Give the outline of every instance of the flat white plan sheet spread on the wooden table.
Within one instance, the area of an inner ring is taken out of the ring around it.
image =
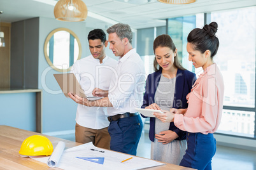
[[[88,160],[78,159],[77,157],[104,157],[104,163],[97,164]],[[122,162],[122,160],[128,159],[129,157],[132,157],[132,159]],[[36,158],[36,160],[47,163],[47,160],[43,158]],[[103,148],[97,148],[92,144],[92,142],[90,142],[64,150],[57,167],[66,170],[85,169],[85,167],[87,170],[131,170],[161,165],[164,165],[164,163],[141,157],[135,157],[133,155],[113,152]]]

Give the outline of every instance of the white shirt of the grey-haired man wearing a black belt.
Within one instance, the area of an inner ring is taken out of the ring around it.
[[[146,80],[144,63],[136,49],[131,49],[118,60],[117,75],[111,79],[108,98],[113,107],[108,108],[108,115],[135,113],[143,101]]]

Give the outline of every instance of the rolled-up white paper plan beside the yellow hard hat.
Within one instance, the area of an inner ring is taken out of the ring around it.
[[[59,141],[57,146],[52,152],[52,155],[47,160],[47,165],[50,167],[57,167],[57,164],[60,160],[60,157],[62,155],[62,152],[64,151],[65,143],[63,141]]]

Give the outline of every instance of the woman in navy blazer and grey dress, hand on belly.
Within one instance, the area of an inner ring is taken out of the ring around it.
[[[146,79],[141,108],[164,110],[187,108],[186,96],[196,81],[196,74],[181,66],[177,49],[169,35],[156,37],[153,51],[155,72]],[[150,117],[151,159],[180,164],[187,148],[185,137],[186,132],[174,126],[173,122],[167,124]]]

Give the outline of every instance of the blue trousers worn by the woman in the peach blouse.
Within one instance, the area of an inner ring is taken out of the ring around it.
[[[212,133],[187,133],[187,150],[180,166],[210,170],[215,152],[216,140]]]

